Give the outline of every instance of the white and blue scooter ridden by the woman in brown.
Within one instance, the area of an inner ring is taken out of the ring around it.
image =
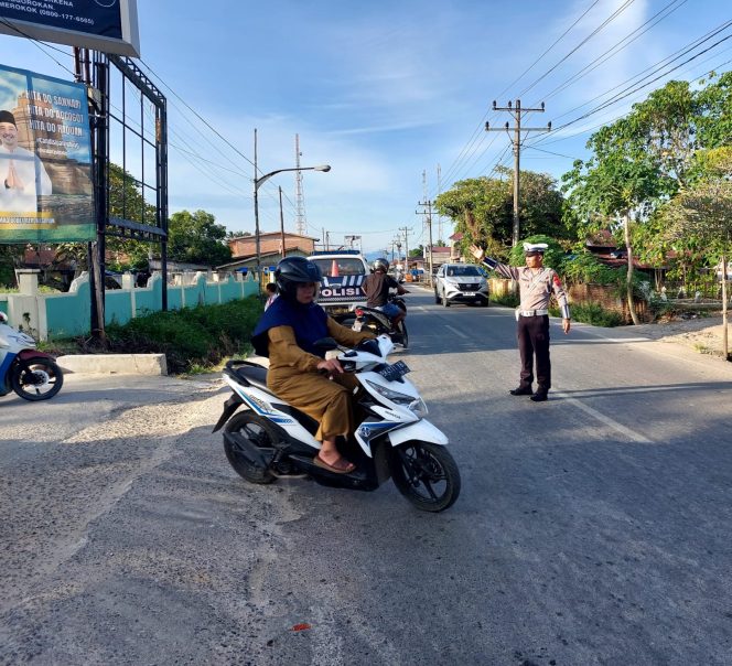
[[[267,368],[229,361],[224,379],[232,396],[214,432],[225,426],[224,450],[236,472],[251,483],[310,475],[322,485],[359,491],[375,491],[391,477],[419,509],[441,512],[452,506],[461,482],[445,449],[448,438],[426,420],[427,406],[405,377],[407,365],[387,363],[391,340],[380,335],[354,350],[340,347],[330,337],[316,344],[326,351],[337,348],[341,365],[355,373],[360,385],[356,411],[365,418],[341,448],[356,469],[335,474],[316,465],[317,422],[267,388]],[[246,411],[235,415],[239,407]]]

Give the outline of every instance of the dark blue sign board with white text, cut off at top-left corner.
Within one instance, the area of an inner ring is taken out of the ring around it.
[[[137,0],[0,0],[0,33],[140,56]]]

